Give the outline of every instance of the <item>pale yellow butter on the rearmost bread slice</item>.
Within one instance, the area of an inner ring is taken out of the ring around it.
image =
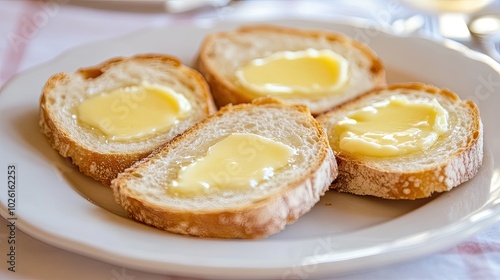
[[[241,86],[257,95],[324,97],[348,79],[348,62],[331,50],[281,51],[254,59],[236,71]]]

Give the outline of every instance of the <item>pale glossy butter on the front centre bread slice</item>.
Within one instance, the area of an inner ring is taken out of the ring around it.
[[[288,165],[295,150],[257,134],[234,133],[210,146],[205,156],[184,166],[168,186],[175,196],[249,190]]]

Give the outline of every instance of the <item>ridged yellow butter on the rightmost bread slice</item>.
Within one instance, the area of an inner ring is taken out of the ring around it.
[[[397,95],[338,121],[332,145],[353,155],[400,156],[430,148],[447,130],[448,113],[436,99]]]

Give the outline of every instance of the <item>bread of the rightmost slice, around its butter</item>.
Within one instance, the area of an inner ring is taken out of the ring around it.
[[[448,112],[449,130],[429,149],[404,156],[375,158],[349,156],[338,148],[334,126],[347,113],[404,95],[410,100],[436,100]],[[449,191],[471,179],[483,158],[483,127],[479,109],[472,101],[462,101],[447,90],[421,83],[396,84],[375,89],[339,108],[319,116],[339,165],[332,188],[358,195],[388,199],[417,199]]]

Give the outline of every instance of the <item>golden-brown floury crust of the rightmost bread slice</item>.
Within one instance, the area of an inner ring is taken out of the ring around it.
[[[431,159],[436,164],[411,171],[395,171],[381,168],[376,164],[376,161],[352,157],[340,151],[334,151],[339,166],[339,176],[332,183],[331,188],[340,192],[358,195],[413,200],[430,197],[433,193],[449,191],[476,175],[483,159],[483,126],[479,109],[474,102],[462,101],[448,89],[440,89],[423,83],[394,84],[375,89],[364,96],[360,96],[349,103],[318,116],[317,119],[323,127],[327,127],[328,133],[331,134],[333,125],[331,119],[338,114],[345,114],[352,104],[366,104],[371,97],[384,90],[401,93],[406,89],[425,92],[431,97],[432,95],[439,95],[449,100],[453,106],[465,108],[468,114],[456,117],[470,117],[473,125],[469,128],[466,139],[460,141],[463,145],[455,147],[446,158]],[[448,135],[447,137],[454,137],[454,135]],[[411,157],[408,160],[411,160]]]

